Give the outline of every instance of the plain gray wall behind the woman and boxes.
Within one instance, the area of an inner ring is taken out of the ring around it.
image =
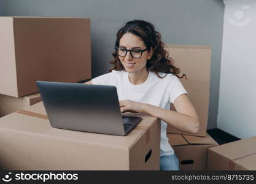
[[[222,0],[1,0],[8,16],[89,17],[93,77],[108,72],[115,34],[128,20],[152,22],[166,44],[212,45],[208,129],[217,127]]]

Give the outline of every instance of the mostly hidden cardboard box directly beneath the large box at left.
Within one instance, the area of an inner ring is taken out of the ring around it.
[[[39,93],[29,94],[20,98],[0,94],[0,118],[16,110],[30,107],[40,101],[42,99]]]

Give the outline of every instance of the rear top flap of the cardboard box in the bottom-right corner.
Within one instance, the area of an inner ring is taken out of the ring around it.
[[[231,160],[243,158],[256,153],[256,136],[209,149]]]

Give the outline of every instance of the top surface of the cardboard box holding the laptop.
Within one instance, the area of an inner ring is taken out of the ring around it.
[[[82,144],[96,144],[116,148],[130,148],[131,145],[147,131],[158,119],[146,113],[126,113],[142,117],[141,122],[126,136],[112,136],[107,134],[97,134],[91,132],[71,131],[66,129],[52,128],[50,122],[44,118],[46,112],[42,102],[25,109],[27,112],[34,112],[34,116],[23,113],[10,113],[6,117],[0,118],[0,129],[8,131],[18,131],[21,134],[36,134],[37,136],[47,136],[53,139],[66,139]],[[36,117],[41,115],[42,117]]]

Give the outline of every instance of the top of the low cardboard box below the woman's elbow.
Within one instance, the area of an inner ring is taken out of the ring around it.
[[[184,134],[167,134],[167,137],[169,138],[171,146],[206,144],[218,145],[217,142],[209,136],[209,134],[207,134],[206,137],[188,136]]]

